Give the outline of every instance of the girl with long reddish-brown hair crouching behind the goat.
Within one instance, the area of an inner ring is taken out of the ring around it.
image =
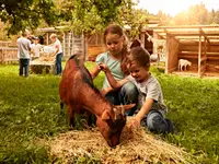
[[[106,44],[106,52],[96,57],[96,67],[91,71],[94,79],[99,73],[99,63],[105,63],[112,72],[115,80],[122,80],[127,74],[126,56],[127,45],[126,36],[119,25],[110,25],[104,32],[104,42]],[[137,103],[138,91],[136,86],[129,82],[124,84],[120,89],[113,90],[107,81],[104,79],[102,94],[114,105]],[[135,108],[127,112],[127,115],[132,115]]]

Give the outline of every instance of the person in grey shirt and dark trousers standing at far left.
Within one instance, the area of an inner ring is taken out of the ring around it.
[[[25,30],[22,32],[22,36],[18,38],[18,57],[19,57],[19,75],[28,77],[28,66],[30,66],[30,51],[31,51],[31,40],[28,39],[31,33]]]

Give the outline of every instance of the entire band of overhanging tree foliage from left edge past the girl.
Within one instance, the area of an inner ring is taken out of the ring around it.
[[[139,28],[142,20],[132,11],[134,4],[131,0],[0,0],[0,19],[9,25],[9,34],[34,30],[43,22],[80,34],[101,31],[112,22],[134,23],[131,27]]]

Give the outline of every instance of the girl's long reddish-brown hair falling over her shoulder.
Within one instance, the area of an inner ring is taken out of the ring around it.
[[[117,24],[111,24],[106,27],[104,32],[104,42],[106,43],[106,35],[107,34],[117,34],[118,36],[124,37],[124,44],[123,44],[123,49],[122,49],[122,60],[120,60],[120,69],[124,72],[124,74],[129,74],[128,70],[126,68],[126,61],[127,61],[127,55],[128,55],[128,39],[127,36],[125,35],[123,28],[117,25]]]

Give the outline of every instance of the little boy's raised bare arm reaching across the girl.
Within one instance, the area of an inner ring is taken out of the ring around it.
[[[119,89],[120,86],[123,86],[125,83],[129,82],[128,79],[123,79],[120,81],[116,81],[113,77],[113,74],[111,73],[111,70],[108,69],[108,67],[104,63],[100,63],[99,65],[100,70],[103,70],[106,74],[106,78],[111,84],[111,86],[113,89]]]

